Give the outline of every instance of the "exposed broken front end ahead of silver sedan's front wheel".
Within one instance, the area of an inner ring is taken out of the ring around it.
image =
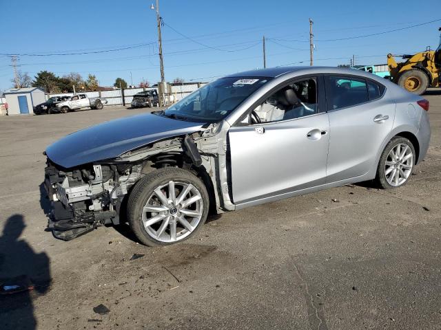
[[[48,228],[69,241],[100,225],[118,224],[127,190],[141,177],[141,165],[90,164],[60,168],[47,161],[45,189],[52,201]]]

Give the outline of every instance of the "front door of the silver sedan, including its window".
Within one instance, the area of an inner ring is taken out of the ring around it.
[[[272,94],[229,131],[234,203],[325,183],[329,120],[318,107],[317,79]],[[256,117],[258,116],[258,118]]]

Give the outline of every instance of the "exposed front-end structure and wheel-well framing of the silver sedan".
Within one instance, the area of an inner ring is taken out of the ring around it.
[[[155,142],[116,159],[76,168],[62,168],[48,157],[45,189],[52,202],[48,228],[58,239],[69,241],[101,225],[118,225],[132,186],[152,170],[167,166],[186,168],[202,177],[212,187],[215,212],[232,209],[229,197],[227,203],[218,198],[222,189],[215,170],[225,168],[226,147],[218,146],[214,131],[216,124],[211,124],[203,132]],[[226,170],[224,179],[227,187]],[[224,192],[228,196],[228,188]]]

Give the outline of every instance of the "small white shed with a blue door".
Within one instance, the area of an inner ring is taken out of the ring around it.
[[[8,103],[8,115],[34,114],[34,107],[46,102],[43,89],[38,87],[14,88],[3,95]]]

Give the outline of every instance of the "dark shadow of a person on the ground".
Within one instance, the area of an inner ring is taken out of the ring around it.
[[[23,215],[14,214],[0,236],[0,329],[4,330],[36,329],[32,300],[45,294],[51,282],[48,255],[35,253],[20,239],[24,229]]]

